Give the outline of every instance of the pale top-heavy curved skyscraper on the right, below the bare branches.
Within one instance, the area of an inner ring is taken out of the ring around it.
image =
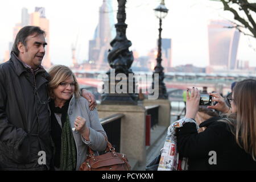
[[[208,72],[216,69],[236,69],[237,49],[240,32],[234,24],[226,20],[211,20],[208,25],[209,67]]]

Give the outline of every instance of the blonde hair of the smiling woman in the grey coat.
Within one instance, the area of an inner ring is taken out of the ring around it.
[[[77,79],[74,73],[69,69],[68,67],[64,65],[54,65],[49,69],[49,75],[51,76],[51,81],[49,81],[49,96],[52,99],[55,99],[55,95],[53,94],[53,89],[57,88],[59,84],[71,76],[73,77],[74,81],[76,82],[75,85],[75,97],[80,96],[80,90],[79,90],[79,85],[77,84]]]

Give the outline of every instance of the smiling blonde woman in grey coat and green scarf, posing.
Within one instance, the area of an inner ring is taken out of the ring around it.
[[[79,170],[88,146],[96,152],[106,148],[106,133],[96,109],[80,96],[79,85],[71,69],[53,66],[49,75],[51,135],[55,144],[55,170]],[[72,129],[73,128],[73,129]]]

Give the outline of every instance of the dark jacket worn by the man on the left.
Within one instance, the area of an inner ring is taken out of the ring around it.
[[[13,52],[11,59],[0,65],[0,168],[3,170],[49,169],[52,142],[48,79],[45,69],[40,67],[32,72]]]

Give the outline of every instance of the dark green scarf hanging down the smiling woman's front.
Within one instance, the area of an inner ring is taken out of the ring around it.
[[[76,143],[73,138],[69,117],[65,121],[61,133],[60,170],[76,170]]]

